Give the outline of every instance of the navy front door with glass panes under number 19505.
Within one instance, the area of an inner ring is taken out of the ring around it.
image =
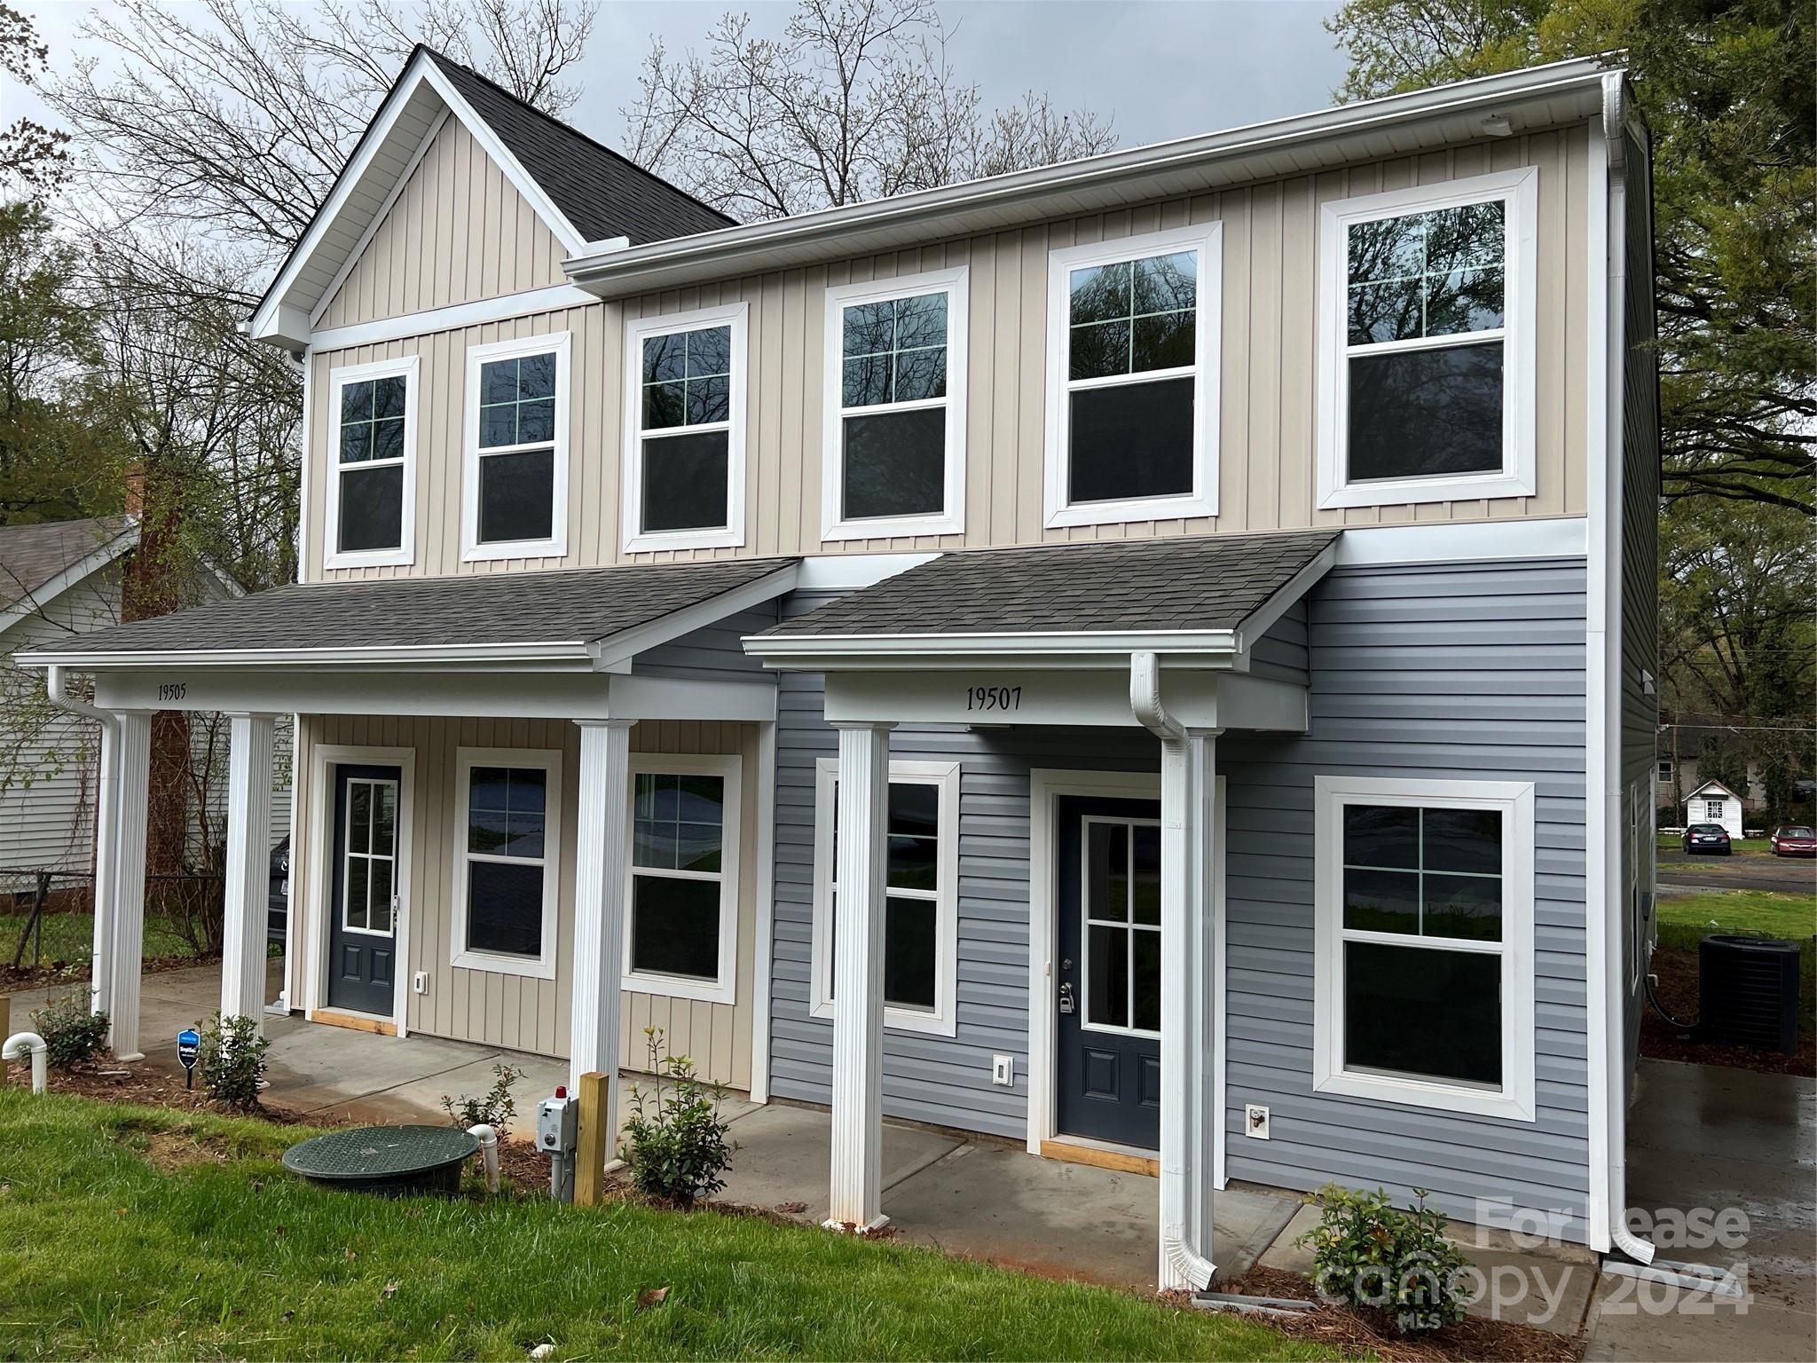
[[[398,965],[396,767],[334,769],[329,1005],[389,1018]]]

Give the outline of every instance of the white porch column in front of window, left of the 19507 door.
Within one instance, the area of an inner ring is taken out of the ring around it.
[[[889,723],[839,723],[838,932],[832,956],[832,1205],[827,1225],[883,1216],[883,914]]]

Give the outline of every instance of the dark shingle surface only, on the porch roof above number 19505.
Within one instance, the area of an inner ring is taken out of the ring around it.
[[[274,587],[84,634],[71,652],[592,643],[756,582],[789,558],[625,563]],[[45,652],[55,652],[45,649]]]

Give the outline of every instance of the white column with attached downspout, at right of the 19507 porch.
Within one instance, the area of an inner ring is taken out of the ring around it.
[[[1188,827],[1194,823],[1197,792],[1192,789],[1187,754],[1188,734],[1161,703],[1161,660],[1152,652],[1130,654],[1130,712],[1161,740],[1161,865],[1177,871],[1192,860],[1187,856]],[[1197,1079],[1203,1065],[1192,1047],[1194,1030],[1203,1036],[1203,1027],[1196,1029],[1194,1021],[1201,1016],[1206,987],[1197,978],[1199,972],[1190,969],[1205,958],[1205,914],[1194,912],[1194,905],[1203,903],[1197,890],[1197,878],[1190,874],[1161,878],[1163,1074],[1167,1063],[1174,1061],[1174,1074],[1165,1074],[1161,1087],[1161,1287],[1185,1283],[1203,1290],[1212,1285],[1217,1267],[1196,1249],[1212,1243],[1212,1170],[1201,1169],[1194,1158],[1205,1147],[1199,1139],[1205,1092]],[[1176,936],[1181,929],[1185,941]],[[1167,967],[1170,954],[1177,963],[1172,972]],[[1170,974],[1185,990],[1168,989]],[[1176,1049],[1185,1054],[1168,1054]]]

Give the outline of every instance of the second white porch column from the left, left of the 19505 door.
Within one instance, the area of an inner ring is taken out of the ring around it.
[[[273,716],[227,714],[227,903],[222,1016],[265,1027],[265,918],[271,892]]]

